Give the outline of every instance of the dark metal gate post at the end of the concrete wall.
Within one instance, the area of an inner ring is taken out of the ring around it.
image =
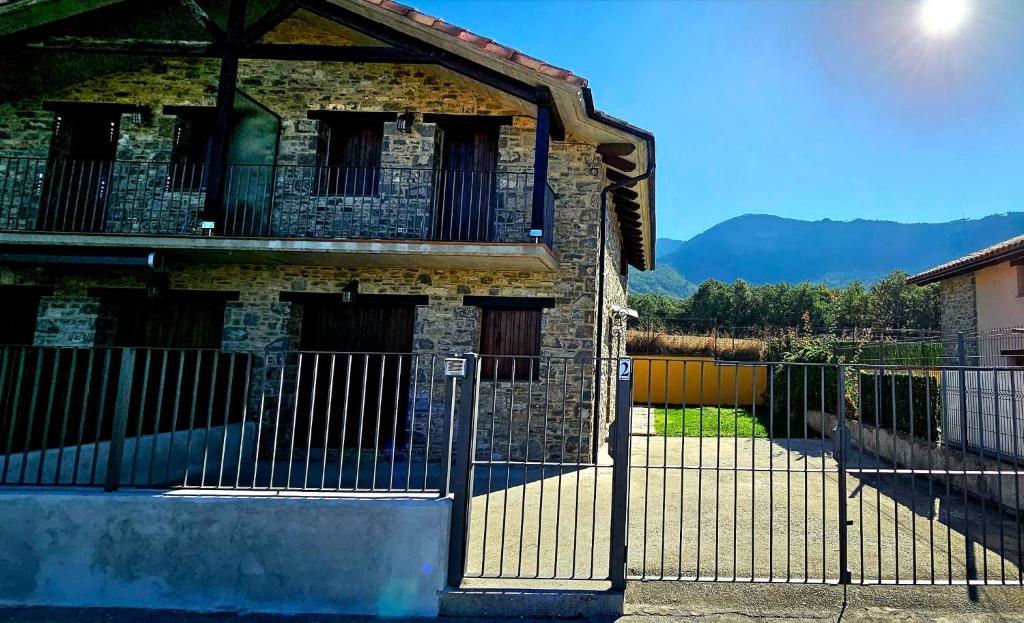
[[[477,406],[477,356],[468,352],[464,356],[465,368],[461,375],[459,386],[459,415],[456,419],[455,376],[449,385],[449,418],[451,426],[458,429],[455,450],[449,460],[455,461],[452,473],[452,533],[449,538],[449,570],[447,584],[458,588],[466,574],[466,552],[469,548],[469,515],[473,504],[473,455],[476,441],[476,406]],[[447,372],[447,371],[445,371]],[[443,486],[443,484],[442,484]]]

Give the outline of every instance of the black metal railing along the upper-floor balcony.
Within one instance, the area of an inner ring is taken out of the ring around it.
[[[229,165],[213,214],[208,174],[205,164],[0,158],[0,231],[551,244],[550,225],[529,237],[527,171]],[[552,222],[550,186],[545,213]]]

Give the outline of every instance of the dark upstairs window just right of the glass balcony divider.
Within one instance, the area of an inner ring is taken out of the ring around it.
[[[380,186],[384,117],[324,113],[316,117],[316,195],[366,197]]]

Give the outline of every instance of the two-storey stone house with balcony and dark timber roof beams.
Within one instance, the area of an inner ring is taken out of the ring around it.
[[[15,0],[0,39],[0,341],[251,354],[264,424],[361,383],[389,452],[443,431],[438,358],[505,357],[482,452],[603,443],[654,139],[586,80],[390,0]]]

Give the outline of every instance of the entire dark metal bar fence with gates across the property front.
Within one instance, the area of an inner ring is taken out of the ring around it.
[[[0,484],[452,492],[453,585],[1024,584],[1024,368],[637,363],[7,346]]]

